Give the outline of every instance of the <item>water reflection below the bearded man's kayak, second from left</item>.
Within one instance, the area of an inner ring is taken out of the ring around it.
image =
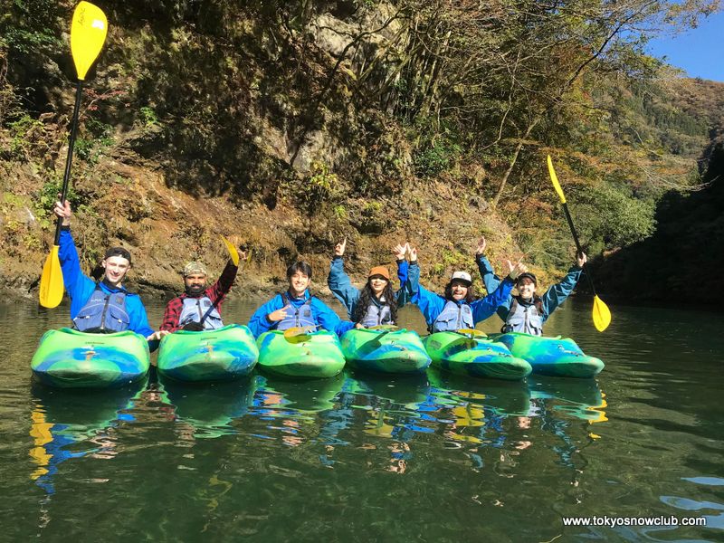
[[[190,424],[195,437],[235,433],[231,423],[249,412],[256,379],[190,384],[162,377],[167,401],[176,407],[176,422]]]

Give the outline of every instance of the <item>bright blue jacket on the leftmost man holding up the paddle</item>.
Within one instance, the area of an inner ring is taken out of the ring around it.
[[[78,250],[68,229],[61,230],[58,242],[58,257],[61,262],[62,281],[68,296],[71,297],[71,319],[78,317],[78,313],[90,300],[93,291],[97,288],[105,294],[122,292],[126,295],[126,312],[129,315],[129,330],[140,334],[144,338],[153,334],[154,330],[148,325],[146,308],[138,294],[129,292],[124,288],[115,289],[104,281],[96,282],[81,271],[81,261]]]

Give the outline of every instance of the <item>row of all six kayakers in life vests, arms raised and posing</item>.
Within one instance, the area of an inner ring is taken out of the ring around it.
[[[131,330],[148,341],[157,342],[178,329],[204,330],[224,326],[221,302],[231,289],[238,271],[231,260],[211,287],[208,273],[201,262],[189,262],[183,271],[185,292],[170,300],[159,330],[148,325],[148,316],[138,294],[127,291],[123,281],[131,267],[131,255],[123,247],[110,248],[101,262],[103,278],[93,281],[81,271],[78,252],[73,242],[71,205],[57,202],[55,214],[62,219],[59,259],[63,282],[71,298],[71,319],[74,328],[84,332],[108,333]],[[329,269],[329,289],[348,312],[348,320],[310,293],[311,266],[294,262],[287,269],[289,287],[256,310],[249,321],[255,337],[271,329],[326,329],[338,335],[348,329],[395,325],[397,310],[405,303],[419,307],[431,332],[473,329],[476,324],[498,313],[503,331],[526,332],[540,336],[543,323],[568,295],[578,281],[586,254],[576,257],[563,281],[550,287],[543,296],[536,295],[538,281],[522,262],[508,262],[508,274],[500,278],[485,258],[485,239],[478,242],[476,262],[488,295],[476,297],[472,278],[467,271],[454,271],[442,295],[424,289],[419,283],[420,267],[417,249],[409,243],[393,248],[400,288],[394,291],[386,266],[373,267],[367,283],[359,290],[344,271],[347,240],[338,243]],[[409,262],[406,256],[409,255]],[[243,258],[244,255],[242,255]],[[513,295],[517,287],[518,294]]]

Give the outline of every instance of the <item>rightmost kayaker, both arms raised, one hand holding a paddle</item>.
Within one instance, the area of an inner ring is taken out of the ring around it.
[[[478,263],[485,289],[492,292],[498,288],[500,278],[495,275],[491,262],[485,258],[485,246],[483,237],[478,242],[478,248],[475,251],[475,262]],[[501,331],[524,332],[534,336],[543,335],[543,323],[573,292],[587,260],[585,252],[576,255],[576,263],[568,270],[563,281],[550,287],[543,296],[536,295],[538,287],[536,276],[530,272],[521,273],[516,281],[518,296],[509,294],[508,299],[498,307],[498,316],[505,322]]]

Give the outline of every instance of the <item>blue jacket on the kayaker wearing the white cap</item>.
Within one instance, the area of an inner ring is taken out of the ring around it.
[[[513,281],[506,277],[503,281],[499,281],[498,287],[494,291],[490,291],[485,298],[479,298],[473,300],[470,303],[470,309],[472,310],[472,321],[473,326],[488,319],[495,310],[498,309],[501,303],[505,300],[510,300],[510,291],[513,290]],[[408,293],[411,296],[411,301],[420,308],[423,312],[425,322],[428,327],[432,327],[435,320],[443,312],[445,305],[452,301],[458,305],[467,304],[464,300],[447,300],[439,294],[428,291],[424,287],[420,286],[420,266],[415,262],[410,263],[409,278],[407,280]]]

